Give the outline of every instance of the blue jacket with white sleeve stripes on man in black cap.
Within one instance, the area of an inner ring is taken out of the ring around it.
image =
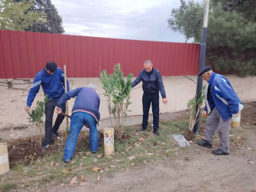
[[[45,95],[48,95],[48,98],[51,100],[58,100],[62,97],[62,94],[65,93],[65,76],[61,68],[51,75],[48,74],[45,68],[42,71],[39,71],[36,74],[35,79],[32,84],[32,88],[28,93],[27,106],[30,107],[35,99],[35,95],[38,93],[42,85],[42,89]],[[69,84],[67,81],[67,90],[69,91]]]

